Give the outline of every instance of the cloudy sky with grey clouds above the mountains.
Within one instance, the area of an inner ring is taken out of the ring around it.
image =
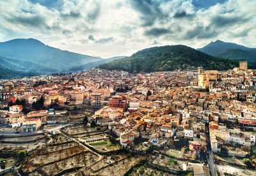
[[[102,58],[216,40],[256,47],[256,1],[1,0],[0,41],[14,38]]]

